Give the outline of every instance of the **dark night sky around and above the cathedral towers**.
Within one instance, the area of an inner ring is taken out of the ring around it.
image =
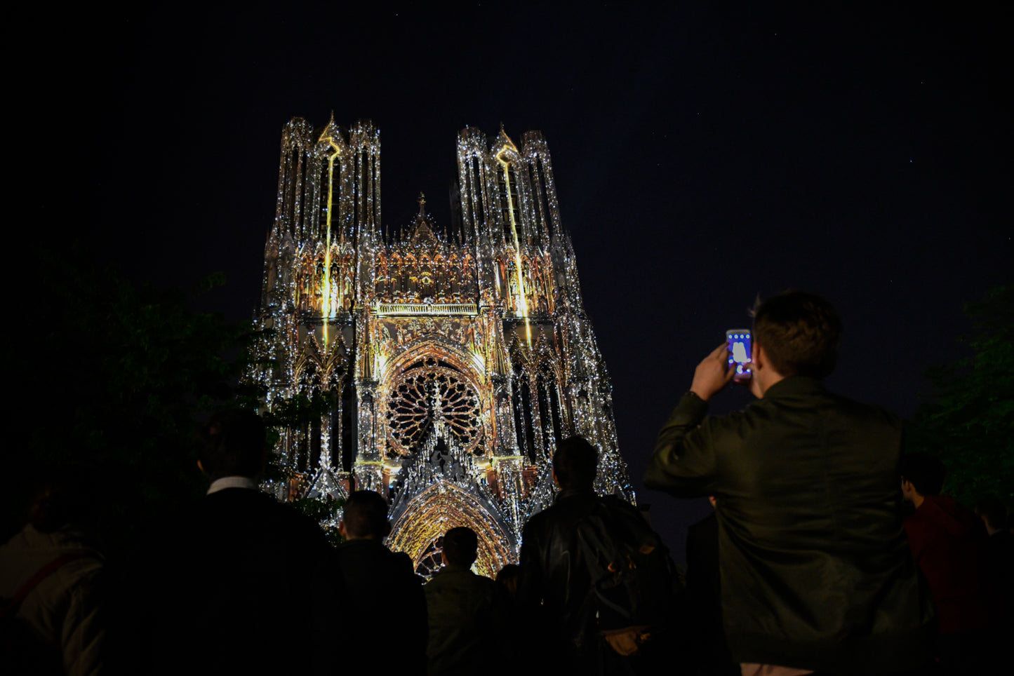
[[[961,304],[1010,282],[1009,10],[279,4],[20,23],[8,106],[43,231],[159,285],[224,271],[208,307],[245,319],[290,118],[373,120],[391,228],[419,191],[449,221],[462,127],[540,129],[637,485],[757,293],[825,295],[846,323],[831,387],[910,416],[959,354]],[[681,550],[700,505],[639,496]]]

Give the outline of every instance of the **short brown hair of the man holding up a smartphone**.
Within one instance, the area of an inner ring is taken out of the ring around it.
[[[825,378],[838,362],[842,320],[820,296],[788,291],[756,304],[753,342],[783,376]]]

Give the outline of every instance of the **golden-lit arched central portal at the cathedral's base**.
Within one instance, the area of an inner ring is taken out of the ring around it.
[[[467,526],[479,536],[476,570],[490,578],[507,564],[516,562],[514,546],[500,520],[483,502],[463,489],[437,479],[409,503],[394,522],[387,544],[412,557],[417,570],[426,562],[443,534]]]

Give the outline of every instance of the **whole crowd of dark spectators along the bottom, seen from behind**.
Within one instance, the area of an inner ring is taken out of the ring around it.
[[[715,508],[685,575],[645,515],[593,491],[598,454],[563,440],[555,503],[524,525],[518,565],[474,572],[452,523],[426,581],[384,544],[388,505],[353,492],[333,547],[262,493],[266,430],[212,418],[207,495],[167,515],[116,575],[76,525],[80,485],[41,482],[0,547],[4,674],[983,674],[1004,671],[1014,538],[1002,501],[941,495],[938,458],[901,455],[900,423],[822,386],[841,322],[788,293],[753,318],[745,409],[707,416],[733,378],[726,346],[698,366],[645,483]]]

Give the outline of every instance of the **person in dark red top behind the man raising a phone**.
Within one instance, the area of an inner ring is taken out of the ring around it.
[[[989,666],[987,630],[998,620],[982,520],[941,495],[945,470],[929,453],[901,457],[901,494],[916,511],[904,520],[909,546],[926,577],[939,621],[937,653],[948,674]]]

